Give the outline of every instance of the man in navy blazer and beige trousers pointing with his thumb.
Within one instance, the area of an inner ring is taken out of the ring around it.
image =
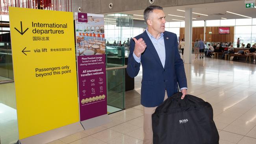
[[[140,65],[141,105],[144,110],[143,144],[153,144],[152,119],[157,106],[178,92],[178,85],[187,94],[187,79],[183,61],[178,52],[177,35],[165,31],[165,14],[160,6],[149,6],[144,11],[147,30],[130,41],[127,73],[137,76]]]

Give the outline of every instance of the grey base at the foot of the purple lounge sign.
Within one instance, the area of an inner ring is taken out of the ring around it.
[[[109,122],[111,122],[111,119],[109,118],[108,114],[104,114],[102,116],[97,116],[89,120],[84,120],[81,122],[81,124],[83,125],[83,128],[86,130]]]

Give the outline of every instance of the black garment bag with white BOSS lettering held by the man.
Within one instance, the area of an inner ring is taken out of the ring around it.
[[[219,144],[210,103],[178,92],[152,114],[154,144]]]

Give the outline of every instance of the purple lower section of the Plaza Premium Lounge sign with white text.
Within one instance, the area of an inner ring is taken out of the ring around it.
[[[107,114],[106,56],[77,58],[80,121]]]

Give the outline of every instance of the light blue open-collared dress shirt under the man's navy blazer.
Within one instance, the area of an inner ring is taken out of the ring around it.
[[[163,33],[161,33],[160,37],[158,39],[156,39],[148,32],[148,29],[146,29],[146,32],[147,32],[148,37],[150,38],[151,42],[153,43],[154,47],[156,48],[156,52],[158,53],[158,56],[163,65],[163,68],[164,68],[165,67],[165,41],[163,38]],[[134,56],[135,61],[137,61],[137,63],[141,62],[141,56],[137,57],[134,53],[133,53],[133,56]],[[182,89],[187,89],[187,88],[183,87],[180,90],[182,90]]]

